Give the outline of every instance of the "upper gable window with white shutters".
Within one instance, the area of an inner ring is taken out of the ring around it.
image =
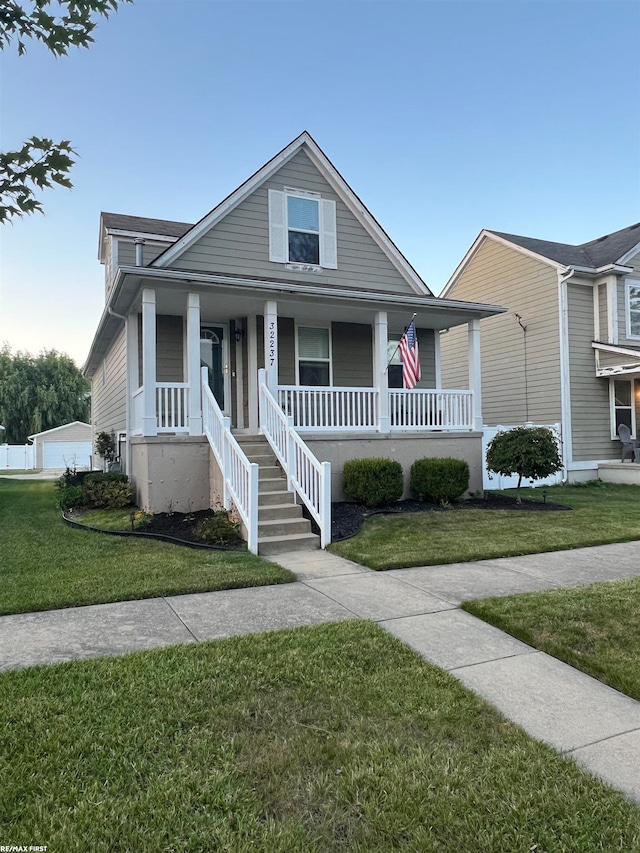
[[[319,193],[269,190],[269,260],[303,272],[336,269],[336,203]]]

